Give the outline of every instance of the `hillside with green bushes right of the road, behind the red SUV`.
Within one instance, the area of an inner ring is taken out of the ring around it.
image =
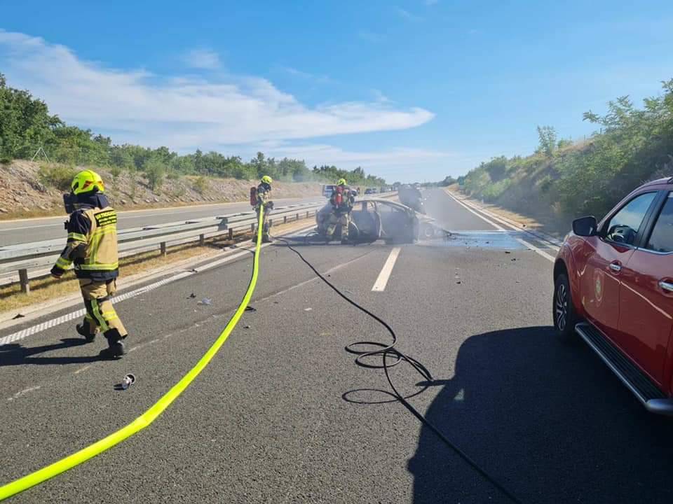
[[[604,116],[586,112],[583,119],[599,130],[583,141],[538,127],[535,153],[482,162],[458,179],[460,188],[536,218],[600,218],[641,183],[673,176],[673,79],[662,91],[642,108],[625,96],[609,102]]]

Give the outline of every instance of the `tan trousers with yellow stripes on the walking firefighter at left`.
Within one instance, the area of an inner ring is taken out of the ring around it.
[[[110,336],[113,339],[126,337],[126,329],[110,301],[117,290],[116,280],[79,279],[79,287],[86,306],[84,326],[88,327],[89,334],[95,334],[100,328],[106,337]]]

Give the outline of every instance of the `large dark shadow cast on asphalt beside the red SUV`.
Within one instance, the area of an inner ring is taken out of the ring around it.
[[[470,337],[439,386],[427,419],[524,503],[673,501],[673,419],[552,328]],[[425,426],[409,470],[416,504],[508,502]]]

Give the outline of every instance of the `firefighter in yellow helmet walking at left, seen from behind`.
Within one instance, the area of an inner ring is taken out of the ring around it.
[[[127,332],[110,302],[119,274],[117,214],[104,195],[100,175],[91,170],[76,174],[71,192],[63,195],[63,202],[70,214],[66,224],[67,244],[51,274],[60,278],[74,264],[86,306],[84,321],[76,326],[77,332],[90,342],[100,329],[108,343],[101,356],[121,357]]]

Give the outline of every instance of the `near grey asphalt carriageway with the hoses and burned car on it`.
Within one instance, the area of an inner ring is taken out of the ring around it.
[[[436,380],[412,404],[522,502],[670,503],[673,422],[646,413],[584,344],[555,338],[551,262],[440,191],[428,207],[458,232],[401,246],[382,292],[372,286],[393,246],[294,241],[393,326]],[[131,331],[122,360],[97,360],[104,342],[76,344],[72,323],[0,346],[0,483],[144,412],[217,337],[250,267],[242,258],[118,302]],[[151,426],[12,501],[508,502],[376,392],[383,373],[344,346],[387,333],[284,244],[264,249],[252,306]],[[128,372],[137,383],[114,391]],[[404,393],[421,390],[408,366],[392,376]]]

